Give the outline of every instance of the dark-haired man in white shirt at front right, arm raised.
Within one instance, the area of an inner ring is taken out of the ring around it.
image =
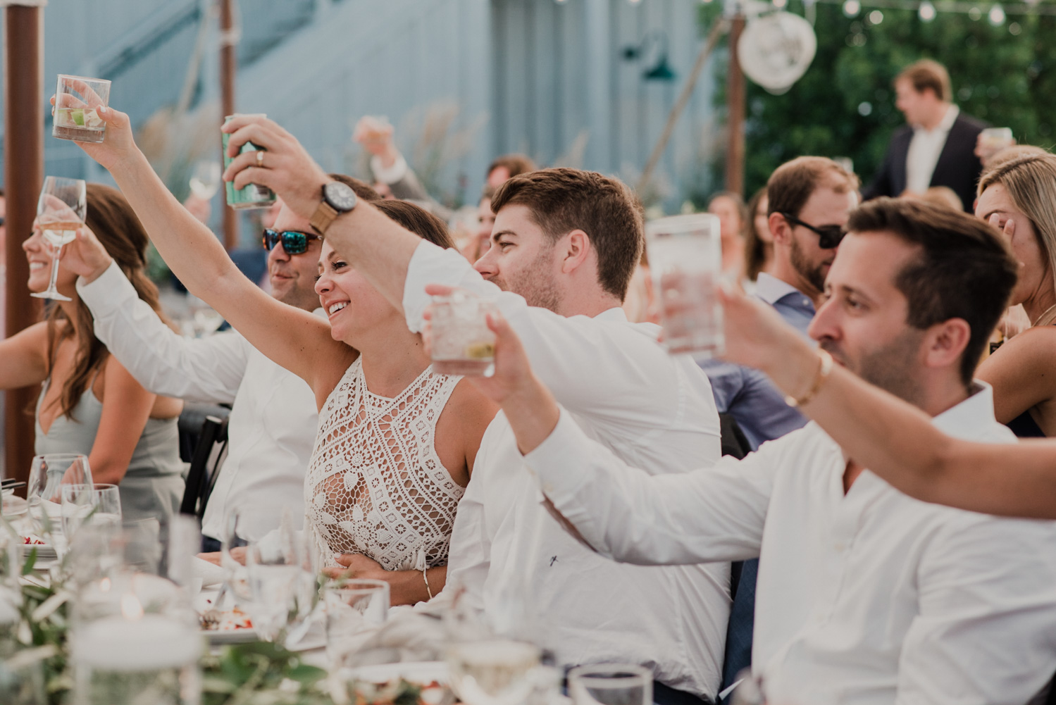
[[[819,346],[947,434],[1011,441],[970,379],[1016,278],[998,234],[888,199],[849,226]],[[1056,523],[912,499],[813,423],[740,462],[650,477],[559,412],[499,332],[493,396],[590,546],[643,565],[760,556],[753,668],[769,702],[1022,704],[1056,670]]]

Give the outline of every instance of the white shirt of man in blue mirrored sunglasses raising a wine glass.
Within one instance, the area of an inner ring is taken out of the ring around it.
[[[282,503],[291,516],[304,514],[304,473],[319,425],[315,395],[304,380],[238,332],[197,340],[177,335],[139,299],[116,263],[91,284],[78,279],[77,292],[95,318],[96,337],[147,389],[231,404],[228,454],[206,506],[203,534],[223,537],[224,517],[234,509],[250,510],[248,540],[279,526],[274,510],[253,508]]]

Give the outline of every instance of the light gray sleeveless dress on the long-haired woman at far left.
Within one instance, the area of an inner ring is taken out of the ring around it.
[[[46,453],[82,453],[89,455],[95,442],[102,416],[102,402],[92,385],[81,395],[74,407],[76,421],[58,416],[45,434],[40,426],[40,405],[51,380],[46,380],[37,399],[36,442],[37,455]],[[156,518],[166,523],[180,511],[184,496],[184,463],[180,460],[180,433],[176,419],[148,419],[132,453],[128,471],[118,484],[121,497],[121,517],[125,521]]]

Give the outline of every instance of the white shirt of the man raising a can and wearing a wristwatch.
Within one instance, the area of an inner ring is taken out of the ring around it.
[[[692,358],[670,356],[657,344],[658,326],[628,323],[618,307],[593,318],[529,307],[484,281],[457,252],[423,243],[403,296],[412,330],[420,328],[430,283],[493,298],[535,374],[591,438],[627,462],[680,473],[718,460],[708,378]],[[531,625],[562,664],[646,664],[666,685],[714,698],[730,611],[729,565],[641,568],[602,558],[549,515],[521,465],[499,414],[458,504],[446,597],[461,586],[464,598],[483,607],[494,625]]]

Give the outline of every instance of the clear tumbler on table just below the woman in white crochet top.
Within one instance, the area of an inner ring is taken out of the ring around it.
[[[323,586],[326,609],[326,655],[335,668],[361,664],[345,663],[358,650],[364,627],[384,624],[389,614],[389,584],[356,578]]]

